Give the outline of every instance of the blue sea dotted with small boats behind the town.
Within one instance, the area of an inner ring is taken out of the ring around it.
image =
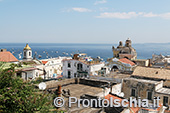
[[[13,55],[19,58],[25,43],[0,43],[0,48],[6,48]],[[87,53],[88,56],[100,56],[105,61],[107,58],[113,57],[112,46],[117,47],[118,44],[66,44],[66,43],[29,43],[33,51],[33,56],[37,52],[40,59],[53,58],[58,56],[71,56],[74,53]],[[152,54],[170,55],[170,43],[144,43],[132,44],[138,54],[138,59],[148,59]],[[57,52],[56,52],[57,51]],[[65,52],[66,54],[63,54]],[[68,54],[67,54],[68,53]],[[23,54],[21,54],[23,56]]]

